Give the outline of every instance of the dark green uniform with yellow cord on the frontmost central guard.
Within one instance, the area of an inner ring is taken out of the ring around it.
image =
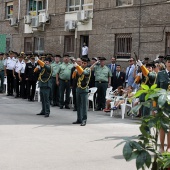
[[[83,122],[87,120],[88,109],[88,84],[90,81],[91,70],[86,68],[82,75],[79,76],[76,89],[76,101],[77,101],[77,122]]]

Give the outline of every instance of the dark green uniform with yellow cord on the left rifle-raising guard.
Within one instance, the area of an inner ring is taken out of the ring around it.
[[[50,93],[52,88],[52,68],[51,66],[45,65],[39,75],[39,87],[40,97],[42,101],[41,113],[49,116],[50,114]]]

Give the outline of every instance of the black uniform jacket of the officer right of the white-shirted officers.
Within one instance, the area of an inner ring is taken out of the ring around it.
[[[37,63],[34,63],[34,65],[31,62],[26,63],[25,77],[28,78],[28,80],[37,81],[38,73],[34,72],[34,69],[35,69],[36,66],[37,66]]]

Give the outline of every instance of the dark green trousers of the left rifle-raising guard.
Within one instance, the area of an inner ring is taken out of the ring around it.
[[[50,87],[40,87],[40,97],[42,103],[42,110],[41,113],[45,115],[50,114]]]

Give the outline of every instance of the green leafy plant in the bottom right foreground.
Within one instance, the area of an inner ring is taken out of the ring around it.
[[[169,131],[170,106],[168,102],[170,103],[170,92],[157,88],[156,84],[150,88],[147,85],[141,85],[141,87],[143,89],[137,91],[134,98],[145,94],[145,102],[133,107],[131,112],[135,114],[142,106],[145,106],[156,111],[156,114],[141,119],[139,127],[141,134],[136,136],[135,140],[129,138],[120,143],[125,142],[123,156],[126,161],[136,159],[136,169],[147,167],[151,170],[162,170],[170,167],[170,153],[161,154],[158,151],[158,132],[161,128],[165,132]],[[153,101],[157,105],[151,107]]]

